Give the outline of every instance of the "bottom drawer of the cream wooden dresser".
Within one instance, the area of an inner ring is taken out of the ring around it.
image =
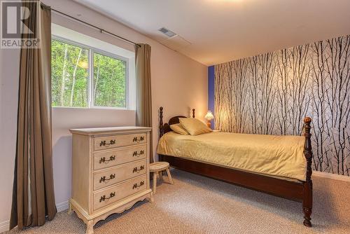
[[[147,188],[147,175],[131,179],[123,184],[94,193],[94,210],[111,205],[129,195],[144,191]]]

